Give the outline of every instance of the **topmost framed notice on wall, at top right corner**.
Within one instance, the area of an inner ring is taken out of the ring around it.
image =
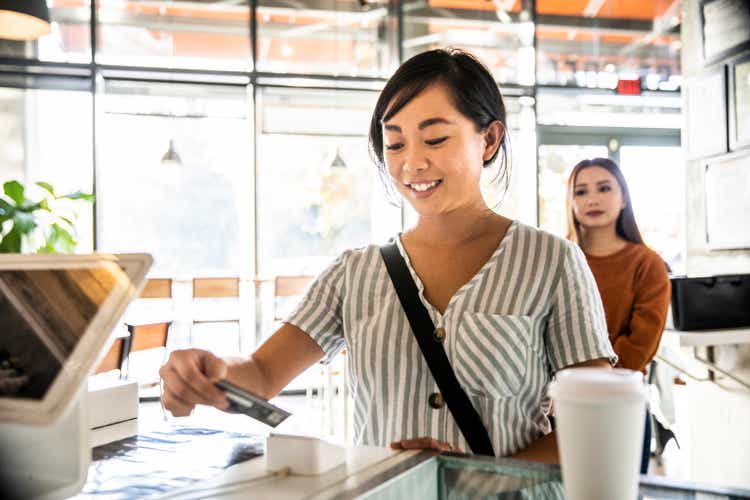
[[[711,63],[750,46],[750,0],[703,0],[703,57]]]

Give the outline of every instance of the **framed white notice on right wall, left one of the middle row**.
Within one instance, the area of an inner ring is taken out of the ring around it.
[[[687,152],[702,158],[727,152],[726,66],[688,79]]]

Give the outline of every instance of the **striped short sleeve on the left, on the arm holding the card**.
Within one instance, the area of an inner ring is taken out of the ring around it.
[[[310,285],[285,323],[309,335],[323,350],[327,364],[344,347],[342,297],[346,253],[338,257]]]

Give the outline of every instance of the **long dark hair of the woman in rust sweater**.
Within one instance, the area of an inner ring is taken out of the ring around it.
[[[580,245],[581,243],[581,224],[575,218],[573,214],[573,195],[575,192],[575,183],[578,173],[584,168],[589,167],[601,167],[606,169],[620,185],[620,191],[622,191],[622,199],[625,202],[625,207],[620,210],[620,215],[617,216],[617,222],[615,224],[615,232],[617,235],[632,243],[643,244],[643,237],[641,232],[638,230],[638,224],[635,222],[635,215],[633,215],[633,203],[630,200],[630,191],[628,190],[628,184],[625,182],[625,177],[622,175],[620,167],[617,163],[613,162],[608,158],[593,158],[591,160],[582,160],[573,167],[573,171],[568,177],[568,194],[565,198],[565,209],[568,213],[568,234],[569,240]]]

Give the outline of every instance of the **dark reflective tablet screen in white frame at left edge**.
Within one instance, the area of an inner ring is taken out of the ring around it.
[[[44,398],[117,286],[117,271],[0,269],[0,397]]]

